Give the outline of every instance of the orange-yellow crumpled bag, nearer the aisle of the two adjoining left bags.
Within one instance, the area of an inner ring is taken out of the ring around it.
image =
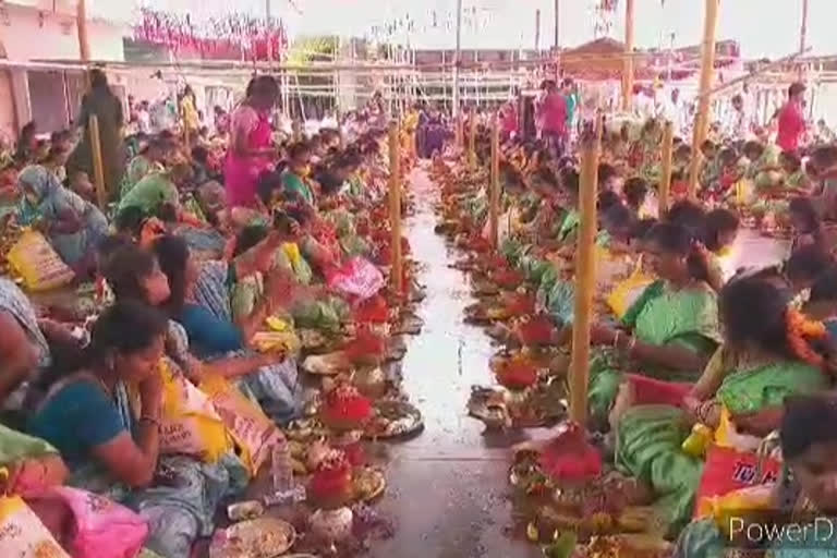
[[[209,396],[240,450],[242,462],[255,476],[269,460],[274,446],[284,444],[284,435],[257,403],[244,397],[226,379],[208,377],[201,383],[201,389]]]

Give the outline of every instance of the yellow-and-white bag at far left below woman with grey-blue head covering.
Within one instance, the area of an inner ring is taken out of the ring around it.
[[[47,239],[37,231],[25,231],[9,251],[7,259],[31,291],[57,289],[69,284],[75,277]]]

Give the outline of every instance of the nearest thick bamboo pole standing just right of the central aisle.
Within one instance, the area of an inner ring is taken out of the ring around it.
[[[581,138],[579,207],[581,226],[575,251],[575,314],[570,360],[570,418],[584,424],[587,418],[590,379],[590,326],[593,322],[593,291],[596,288],[595,240],[598,156],[602,146],[602,117]]]

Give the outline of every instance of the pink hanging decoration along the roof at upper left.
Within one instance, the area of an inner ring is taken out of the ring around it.
[[[274,60],[288,50],[288,34],[281,21],[268,22],[247,14],[229,14],[195,22],[191,15],[174,15],[144,8],[134,38],[166,46],[180,56],[203,59]],[[268,46],[270,47],[268,49]]]

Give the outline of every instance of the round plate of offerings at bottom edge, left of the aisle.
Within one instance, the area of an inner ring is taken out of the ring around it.
[[[217,531],[209,558],[275,558],[293,546],[296,531],[287,521],[258,518]]]

